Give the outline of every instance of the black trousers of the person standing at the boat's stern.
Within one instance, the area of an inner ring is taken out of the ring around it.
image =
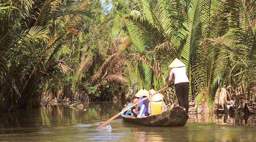
[[[186,108],[186,112],[188,113],[188,82],[182,82],[175,84],[176,96],[178,98],[179,106]]]

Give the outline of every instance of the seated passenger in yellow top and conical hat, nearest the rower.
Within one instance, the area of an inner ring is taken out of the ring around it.
[[[149,95],[152,93],[155,93],[154,89],[149,90]],[[164,98],[164,95],[161,93],[157,93],[154,96],[152,96],[152,108],[153,108],[153,115],[161,114],[164,112],[164,104],[162,99]],[[151,114],[151,104],[149,102],[148,112]]]

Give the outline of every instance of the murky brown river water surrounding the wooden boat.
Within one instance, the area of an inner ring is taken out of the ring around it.
[[[83,109],[57,104],[0,113],[0,141],[256,141],[256,116],[189,115],[182,127],[137,126],[119,116],[95,129],[124,104],[90,102]]]

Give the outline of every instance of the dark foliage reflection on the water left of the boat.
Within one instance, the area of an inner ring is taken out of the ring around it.
[[[70,126],[73,124],[105,121],[122,110],[124,102],[90,102],[84,103],[84,108],[63,106],[47,106],[21,110],[11,113],[1,113],[0,128]],[[121,117],[119,117],[121,118]]]

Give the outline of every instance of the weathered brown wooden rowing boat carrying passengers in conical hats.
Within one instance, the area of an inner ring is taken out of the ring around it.
[[[142,126],[184,126],[187,123],[188,115],[180,106],[175,106],[162,114],[136,118],[130,116],[131,111],[121,114],[124,121],[136,123]]]

